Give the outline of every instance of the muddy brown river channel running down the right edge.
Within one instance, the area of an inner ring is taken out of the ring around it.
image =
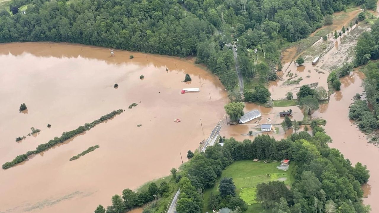
[[[323,111],[316,111],[312,116],[319,116],[326,119],[325,132],[333,139],[330,147],[339,149],[353,165],[361,162],[370,170],[368,184],[363,187],[365,192],[365,204],[371,205],[371,212],[379,212],[379,149],[373,144],[369,144],[366,135],[359,131],[356,125],[349,120],[349,105],[356,93],[362,94],[361,72],[354,72],[350,76],[341,78],[341,91],[330,96],[329,103],[325,104]],[[321,106],[320,106],[321,108]]]

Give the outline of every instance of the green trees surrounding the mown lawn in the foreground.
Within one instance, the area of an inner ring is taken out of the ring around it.
[[[207,147],[205,152],[197,153],[184,164],[180,176],[176,169],[172,180],[179,182],[181,193],[177,202],[178,213],[199,213],[203,202],[207,201],[212,208],[229,207],[234,210],[246,210],[246,203],[235,194],[232,180],[222,179],[220,194],[211,195],[209,200],[202,199],[205,189],[216,184],[222,171],[234,161],[268,159],[291,159],[294,183],[288,189],[283,182],[269,182],[257,186],[257,200],[266,208],[273,208],[278,213],[299,212],[335,212],[335,213],[368,213],[370,207],[362,204],[361,185],[370,177],[366,166],[357,163],[354,167],[337,149],[328,147],[332,139],[324,133],[322,127],[313,125],[314,135],[307,132],[294,133],[287,139],[276,141],[268,135],[260,135],[254,141],[222,139],[224,146],[216,144]],[[162,183],[166,185],[166,183]],[[178,187],[178,185],[176,185]],[[161,188],[162,186],[160,186]],[[160,197],[162,190],[151,183],[147,191],[133,193],[126,189],[123,196],[112,197],[112,205],[101,208],[106,213],[123,213],[134,207],[142,206],[152,200],[152,194]],[[163,191],[176,191],[163,187]],[[155,191],[154,191],[155,190]],[[125,195],[127,191],[127,195]],[[273,193],[268,193],[268,192]],[[147,198],[146,194],[150,194]],[[117,198],[117,199],[116,199]],[[205,198],[205,196],[204,196]],[[131,203],[132,202],[132,203]],[[144,212],[155,212],[147,208]]]

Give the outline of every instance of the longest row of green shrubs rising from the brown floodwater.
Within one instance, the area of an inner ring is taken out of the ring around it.
[[[118,114],[121,114],[123,111],[124,111],[123,109],[115,110],[115,111],[113,111],[113,112],[111,112],[109,114],[106,114],[105,116],[100,117],[100,119],[97,119],[97,120],[95,120],[95,121],[93,121],[93,122],[91,122],[89,124],[84,124],[84,126],[80,126],[77,129],[75,129],[75,130],[71,130],[70,132],[63,132],[62,136],[55,137],[54,139],[51,139],[47,143],[39,144],[38,147],[36,148],[36,150],[28,151],[26,154],[23,154],[23,155],[18,155],[12,161],[4,163],[3,164],[3,169],[8,169],[8,168],[11,168],[12,166],[14,166],[14,165],[16,165],[18,163],[21,163],[22,161],[28,159],[29,155],[33,155],[33,154],[37,154],[37,153],[43,152],[43,151],[49,149],[50,147],[55,146],[56,144],[63,143],[67,139],[70,139],[70,138],[74,137],[75,135],[83,133],[86,130],[89,130],[89,129],[93,128],[97,124],[100,124],[103,121],[106,121],[106,120],[111,119],[112,117],[114,117],[114,116],[116,116]]]

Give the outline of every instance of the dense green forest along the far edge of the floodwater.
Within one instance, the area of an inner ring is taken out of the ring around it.
[[[351,0],[13,0],[0,11],[0,42],[53,41],[197,56],[227,89],[237,85],[229,47],[239,38],[244,76],[274,80],[279,45],[306,38]],[[357,1],[356,3],[366,3]],[[27,5],[25,14],[18,7]],[[246,49],[265,52],[252,62]],[[271,67],[269,67],[271,66]],[[280,66],[279,66],[280,67]]]

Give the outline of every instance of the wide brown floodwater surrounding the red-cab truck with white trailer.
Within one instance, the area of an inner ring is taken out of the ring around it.
[[[0,169],[1,213],[88,213],[110,205],[125,188],[169,175],[181,164],[180,152],[186,160],[186,152],[224,116],[226,91],[204,67],[170,56],[114,54],[74,44],[0,45],[1,164],[112,110],[126,109],[30,161]],[[181,82],[185,73],[191,82]],[[189,87],[200,92],[180,93]],[[18,111],[23,102],[25,114]],[[128,109],[133,102],[138,106]],[[30,127],[41,132],[16,143]],[[69,161],[96,144],[95,152]]]

